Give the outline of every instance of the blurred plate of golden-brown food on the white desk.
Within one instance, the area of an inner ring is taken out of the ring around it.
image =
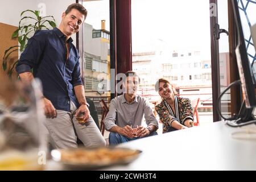
[[[52,159],[68,169],[98,169],[133,162],[141,154],[140,150],[118,147],[73,148],[52,150]]]

